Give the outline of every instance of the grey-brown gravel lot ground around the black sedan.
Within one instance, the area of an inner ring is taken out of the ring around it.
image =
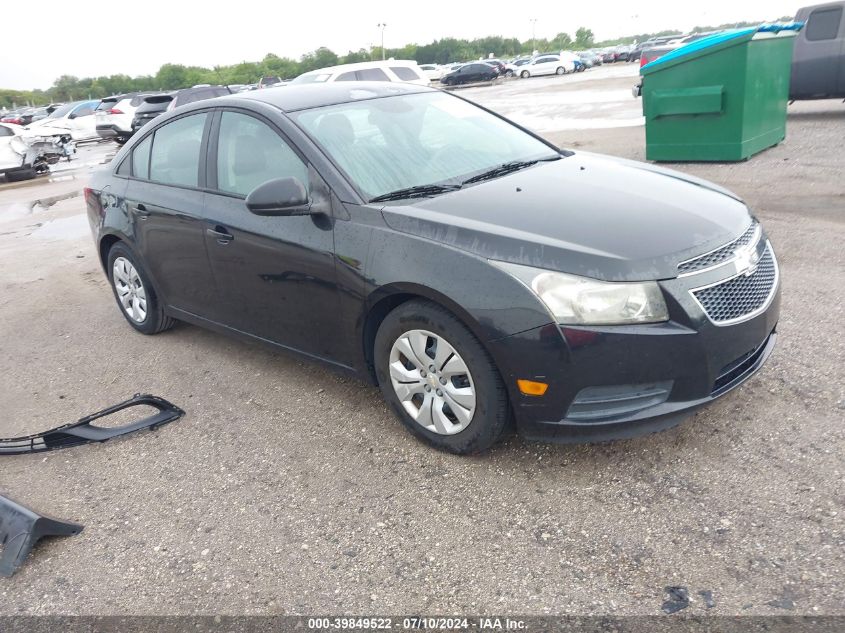
[[[642,160],[635,75],[459,94],[562,146]],[[0,436],[136,392],[187,411],[2,458],[0,490],[85,531],[0,582],[0,614],[655,614],[668,585],[689,588],[685,614],[845,613],[843,137],[843,104],[797,103],[780,146],[675,166],[744,197],[776,248],[780,338],[756,377],[657,435],[510,439],[471,458],[417,442],[376,388],[323,366],[191,326],[132,331],[82,198],[25,204],[81,189],[88,167],[0,187]]]

